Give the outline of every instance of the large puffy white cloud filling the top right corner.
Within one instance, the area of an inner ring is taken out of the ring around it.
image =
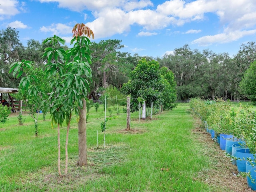
[[[190,3],[186,3],[185,0],[170,0],[158,5],[156,11],[175,17],[181,24],[204,20],[205,13],[216,14],[221,24],[226,24],[230,30],[247,28],[248,20],[250,20],[250,26],[256,24],[254,0],[196,0]]]

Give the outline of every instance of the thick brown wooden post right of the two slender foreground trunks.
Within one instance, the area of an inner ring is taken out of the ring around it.
[[[83,108],[80,109],[78,121],[78,166],[87,165],[86,144],[86,100],[83,100]]]

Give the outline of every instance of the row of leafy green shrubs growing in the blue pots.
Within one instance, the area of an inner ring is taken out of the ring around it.
[[[190,100],[192,113],[206,122],[216,133],[232,134],[245,141],[250,153],[256,153],[256,112],[248,105],[232,107],[230,102],[218,98],[215,101]]]

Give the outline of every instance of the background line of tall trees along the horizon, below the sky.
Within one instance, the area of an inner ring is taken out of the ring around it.
[[[0,31],[0,87],[18,88],[20,79],[8,74],[12,62],[21,59],[34,61],[34,67],[44,70],[47,60],[42,59],[44,48],[51,44],[42,44],[37,40],[29,40],[27,46],[19,40],[18,30],[7,27]],[[58,45],[65,50],[67,46]],[[211,50],[192,50],[188,45],[176,48],[172,54],[162,57],[142,57],[121,52],[121,40],[102,40],[92,42],[92,98],[98,92],[110,85],[122,88],[127,83],[129,75],[144,58],[147,61],[156,60],[160,68],[167,67],[174,73],[177,83],[177,97],[186,100],[193,97],[211,98],[223,97],[230,100],[245,98],[239,84],[250,64],[256,60],[256,44],[242,44],[237,54],[215,53]]]

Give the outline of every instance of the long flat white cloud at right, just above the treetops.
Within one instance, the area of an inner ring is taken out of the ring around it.
[[[192,41],[192,44],[198,44],[199,46],[209,46],[213,43],[228,43],[252,34],[256,34],[256,30],[248,30],[248,31],[237,30],[230,33],[220,33],[216,35],[203,36]]]

